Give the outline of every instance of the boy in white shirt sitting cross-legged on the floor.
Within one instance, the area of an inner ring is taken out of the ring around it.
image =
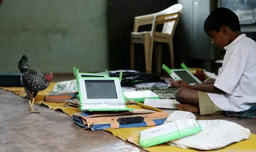
[[[214,46],[226,50],[215,82],[191,86],[170,79],[177,88],[179,110],[201,115],[244,111],[256,102],[256,43],[241,33],[238,16],[232,10],[214,10],[204,24]]]

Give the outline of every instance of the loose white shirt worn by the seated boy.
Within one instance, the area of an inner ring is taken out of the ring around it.
[[[225,111],[247,110],[256,102],[256,43],[242,34],[224,49],[226,54],[214,86],[225,94],[207,94]]]

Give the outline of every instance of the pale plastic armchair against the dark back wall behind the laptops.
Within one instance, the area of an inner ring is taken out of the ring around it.
[[[171,68],[174,69],[174,48],[173,37],[174,31],[177,27],[178,21],[182,13],[183,5],[175,4],[171,7],[149,15],[136,16],[134,18],[134,29],[131,32],[131,46],[130,46],[130,62],[131,69],[134,69],[134,44],[144,44],[145,52],[145,69],[147,73],[152,72],[152,54],[153,44],[156,49],[156,70],[159,73],[161,71],[161,58],[162,58],[162,44],[169,44]],[[138,32],[139,26],[152,24],[151,31]],[[162,32],[155,32],[156,26],[164,24]]]

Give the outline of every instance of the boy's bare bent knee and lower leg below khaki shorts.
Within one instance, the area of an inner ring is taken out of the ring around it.
[[[175,92],[175,100],[180,102],[178,109],[181,111],[199,112],[198,92],[189,88],[178,88]]]

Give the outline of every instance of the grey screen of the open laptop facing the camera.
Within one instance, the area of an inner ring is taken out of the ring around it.
[[[84,80],[88,99],[117,98],[114,80]]]

